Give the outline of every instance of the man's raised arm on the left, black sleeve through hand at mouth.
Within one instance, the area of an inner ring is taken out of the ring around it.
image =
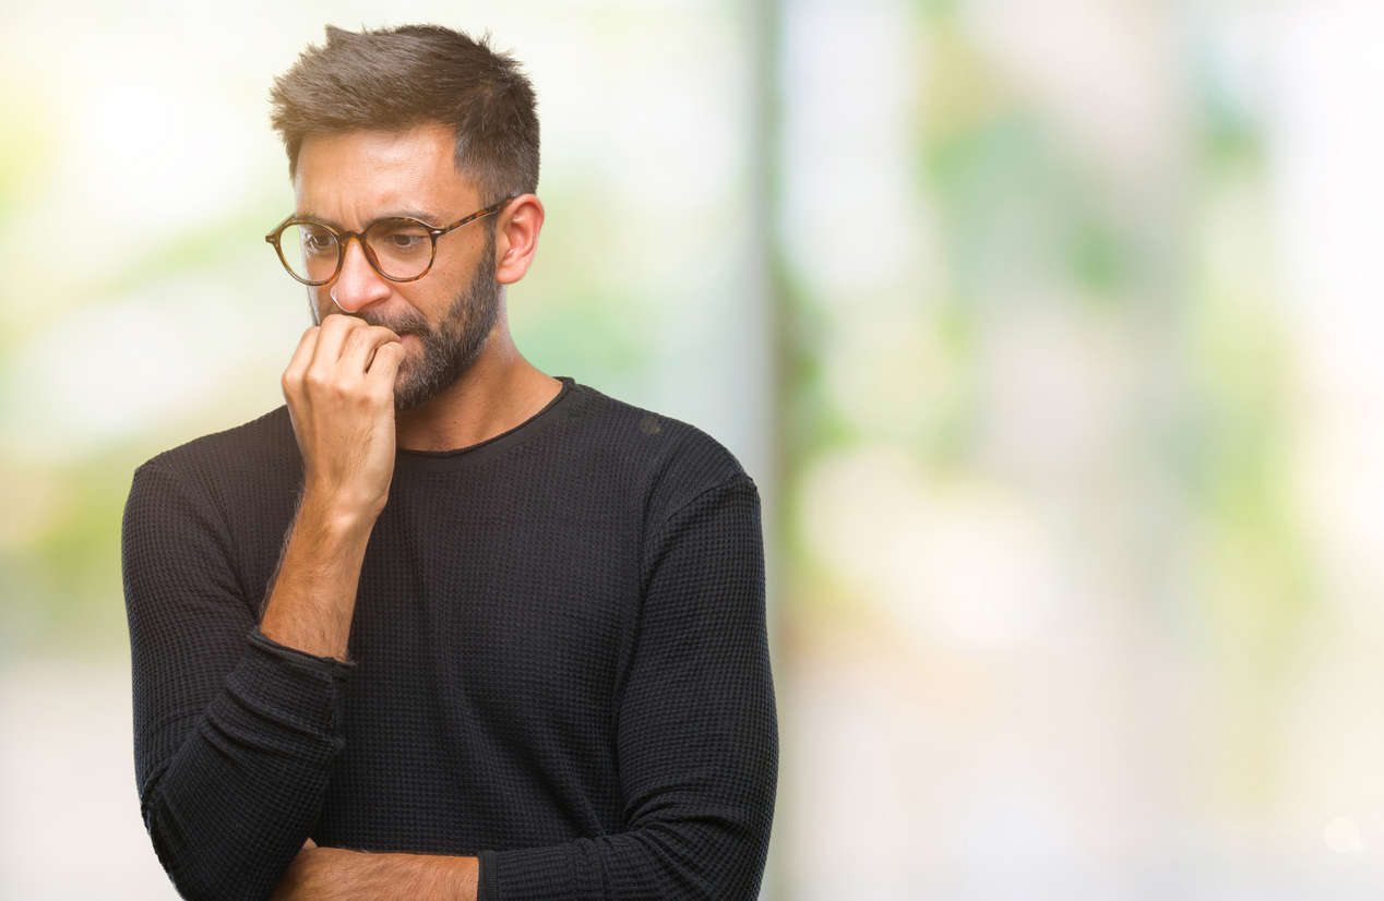
[[[342,657],[393,469],[401,350],[389,329],[328,318],[304,332],[284,378],[306,480],[263,623],[199,486],[145,465],[126,502],[141,812],[187,897],[268,897],[345,742]]]

